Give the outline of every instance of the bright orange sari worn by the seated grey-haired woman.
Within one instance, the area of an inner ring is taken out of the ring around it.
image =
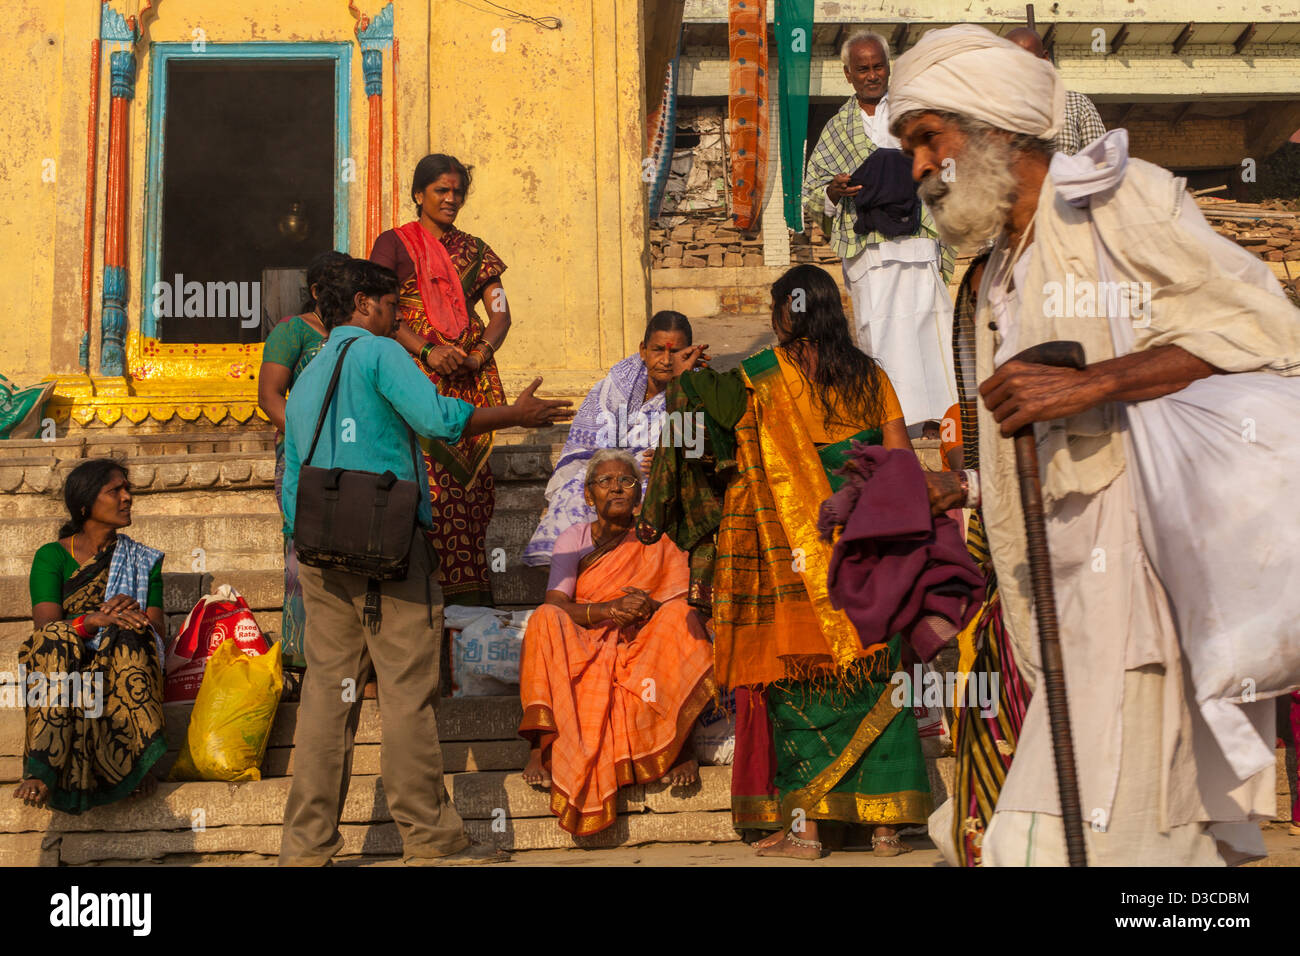
[[[644,545],[629,532],[580,571],[575,600],[601,604],[641,588],[663,602],[649,620],[582,627],[542,605],[528,622],[519,734],[541,745],[551,813],[571,834],[604,830],[619,787],[663,777],[714,696],[712,645],[686,604],[689,579],[686,553],[667,536]]]

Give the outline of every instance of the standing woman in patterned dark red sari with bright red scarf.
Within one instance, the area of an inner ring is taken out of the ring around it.
[[[469,191],[469,169],[455,156],[425,156],[415,168],[417,216],[380,234],[370,260],[398,273],[396,341],[445,395],[471,405],[506,405],[495,354],[510,330],[500,285],[506,264],[486,242],[455,226]],[[488,324],[476,313],[484,304]],[[425,446],[433,544],[447,604],[490,605],[485,537],[494,488],[491,433]]]

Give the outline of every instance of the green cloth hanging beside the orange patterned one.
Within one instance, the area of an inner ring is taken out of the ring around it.
[[[809,138],[809,77],[812,73],[812,0],[776,0],[775,31],[785,225],[802,233],[803,148]]]

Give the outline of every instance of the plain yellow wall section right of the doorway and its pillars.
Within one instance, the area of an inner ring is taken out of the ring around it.
[[[528,9],[562,27],[433,0],[429,146],[474,166],[458,225],[508,267],[507,393],[540,369],[545,390],[577,394],[649,317],[640,3]]]

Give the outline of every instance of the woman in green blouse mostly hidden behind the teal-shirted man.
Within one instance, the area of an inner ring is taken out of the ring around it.
[[[302,315],[281,319],[261,350],[261,371],[257,375],[257,405],[266,412],[270,424],[276,427],[276,501],[281,511],[281,489],[285,480],[285,401],[298,376],[316,358],[325,343],[325,325],[316,310],[316,293],[330,269],[346,263],[342,252],[321,252],[307,267],[307,302]],[[307,667],[307,654],[303,650],[303,588],[298,583],[298,554],[294,551],[294,538],[285,535],[285,606],[280,620],[281,659],[289,671]],[[294,696],[290,674],[286,674],[287,697]]]

